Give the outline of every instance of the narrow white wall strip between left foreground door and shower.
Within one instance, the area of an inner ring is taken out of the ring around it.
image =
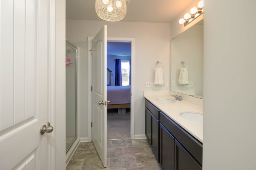
[[[55,158],[48,161],[50,163],[50,167],[48,169],[54,170],[64,170],[66,165],[66,74],[65,74],[65,55],[66,55],[66,47],[65,47],[65,23],[66,23],[66,3],[63,0],[55,0],[51,1],[51,3],[55,3],[55,77],[54,77],[54,85],[55,85],[55,106],[53,106],[54,110],[52,112],[55,113],[54,117],[52,117],[51,124],[54,127],[54,131],[51,133],[54,135],[54,138],[51,139],[53,142],[51,145],[54,145],[54,154],[51,152],[50,154]],[[51,102],[52,104],[52,102]],[[54,164],[54,167],[52,166]]]

